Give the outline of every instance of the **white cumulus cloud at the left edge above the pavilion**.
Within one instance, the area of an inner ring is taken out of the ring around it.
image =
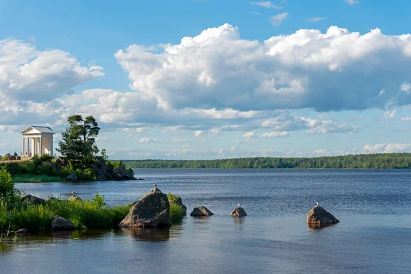
[[[21,40],[0,40],[0,98],[12,101],[45,102],[65,94],[95,77],[101,66],[82,66],[65,51],[37,50]]]

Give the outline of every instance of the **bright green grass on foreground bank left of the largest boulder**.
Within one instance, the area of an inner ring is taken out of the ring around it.
[[[30,233],[50,232],[53,216],[62,216],[77,228],[117,227],[129,212],[129,206],[99,207],[93,201],[80,203],[50,199],[42,206],[32,203],[0,201],[0,233],[28,229]]]

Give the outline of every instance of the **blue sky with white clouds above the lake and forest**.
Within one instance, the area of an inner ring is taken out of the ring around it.
[[[411,152],[406,0],[0,0],[0,154],[92,115],[112,159]]]

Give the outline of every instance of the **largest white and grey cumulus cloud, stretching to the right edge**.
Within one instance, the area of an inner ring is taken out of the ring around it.
[[[162,109],[325,112],[411,103],[401,86],[411,82],[411,35],[379,29],[299,29],[258,42],[225,24],[177,45],[131,45],[115,57],[131,88]]]

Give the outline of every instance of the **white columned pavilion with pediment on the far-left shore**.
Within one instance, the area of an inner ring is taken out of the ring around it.
[[[20,134],[23,137],[23,157],[43,154],[53,156],[53,129],[30,125]]]

